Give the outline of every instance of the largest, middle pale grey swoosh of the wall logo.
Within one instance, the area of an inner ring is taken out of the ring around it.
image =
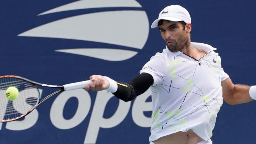
[[[148,24],[145,11],[99,12],[60,19],[18,36],[87,40],[142,49]]]

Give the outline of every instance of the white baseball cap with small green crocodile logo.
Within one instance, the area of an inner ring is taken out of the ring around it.
[[[158,16],[158,19],[156,19],[152,25],[151,28],[156,28],[158,25],[159,20],[165,19],[173,22],[179,22],[184,21],[186,24],[191,23],[191,17],[189,15],[189,12],[179,5],[171,5],[165,7]]]

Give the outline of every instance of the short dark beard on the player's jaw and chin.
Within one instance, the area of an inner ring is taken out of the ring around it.
[[[189,41],[188,38],[185,35],[183,35],[183,36],[180,36],[176,41],[174,41],[172,46],[168,46],[167,42],[166,42],[166,45],[169,51],[177,52],[177,51],[180,51],[185,46],[187,46],[188,41]]]

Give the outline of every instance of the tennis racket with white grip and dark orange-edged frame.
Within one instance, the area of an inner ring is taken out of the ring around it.
[[[55,86],[38,83],[14,75],[0,76],[0,122],[18,120],[31,113],[31,111],[50,97],[63,91],[84,88],[89,83],[91,83],[90,80]],[[6,90],[10,86],[14,86],[19,90],[18,97],[12,101],[6,97]],[[58,90],[40,100],[41,96],[37,86],[56,88]]]

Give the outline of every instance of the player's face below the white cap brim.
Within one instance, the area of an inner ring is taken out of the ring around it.
[[[161,36],[171,52],[180,51],[188,45],[189,35],[180,22],[163,21],[159,26]]]

